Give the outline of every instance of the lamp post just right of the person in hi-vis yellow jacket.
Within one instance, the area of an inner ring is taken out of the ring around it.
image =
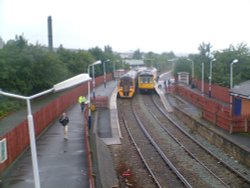
[[[88,75],[90,77],[90,67],[92,66],[92,77],[93,77],[93,97],[95,97],[95,65],[98,65],[98,64],[101,64],[102,62],[99,60],[99,61],[96,61],[92,64],[90,64],[88,66]],[[88,125],[89,125],[89,128],[91,127],[91,100],[90,100],[90,81],[88,81],[88,108],[89,108],[89,113],[88,113]]]

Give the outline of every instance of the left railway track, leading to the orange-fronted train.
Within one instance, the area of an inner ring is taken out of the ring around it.
[[[185,179],[181,177],[181,174],[176,171],[174,168],[170,168],[169,161],[166,157],[163,156],[162,151],[157,148],[155,144],[152,144],[149,135],[143,132],[143,128],[140,125],[140,120],[136,115],[131,111],[132,103],[127,101],[129,104],[123,106],[123,119],[126,130],[128,131],[129,137],[136,147],[138,155],[143,161],[145,167],[149,172],[149,176],[152,177],[155,187],[190,187],[185,186],[182,182],[185,182]],[[174,173],[175,172],[175,173]],[[176,175],[176,173],[178,175]],[[179,177],[178,177],[179,176]],[[180,181],[180,178],[183,180]],[[187,185],[188,183],[185,182]]]

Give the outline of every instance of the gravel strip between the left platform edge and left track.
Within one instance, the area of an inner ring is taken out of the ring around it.
[[[131,113],[129,100],[131,99],[117,100],[119,123],[123,139],[121,145],[110,146],[120,182],[119,187],[154,188],[157,186],[137,154],[122,120],[123,117],[127,116],[127,113]],[[129,119],[126,119],[126,121],[129,121]],[[131,175],[127,177],[123,176],[124,172],[127,171],[130,171]]]

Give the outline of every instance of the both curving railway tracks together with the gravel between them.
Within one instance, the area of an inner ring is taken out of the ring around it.
[[[249,187],[241,173],[180,131],[158,100],[147,95],[118,100],[122,124],[155,187]]]

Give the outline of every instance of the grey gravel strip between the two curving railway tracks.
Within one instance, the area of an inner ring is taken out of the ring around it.
[[[143,102],[140,102],[140,100]],[[165,155],[168,156],[171,162],[188,180],[192,187],[223,187],[223,184],[221,184],[219,180],[217,180],[202,165],[190,157],[190,155],[186,153],[184,149],[169,134],[166,133],[166,131],[164,131],[159,123],[157,123],[155,118],[153,118],[152,114],[148,111],[148,109],[150,109],[152,113],[159,113],[150,96],[143,95],[136,102],[141,104],[140,109],[144,109],[140,111],[145,112],[144,114],[141,114],[141,117],[152,117],[152,122],[143,120],[143,123],[147,126],[146,128],[150,132],[150,135],[155,139],[157,144],[164,151]],[[146,105],[147,108],[143,107],[143,105]],[[165,117],[164,121],[166,121],[166,124],[170,124],[167,122]]]

